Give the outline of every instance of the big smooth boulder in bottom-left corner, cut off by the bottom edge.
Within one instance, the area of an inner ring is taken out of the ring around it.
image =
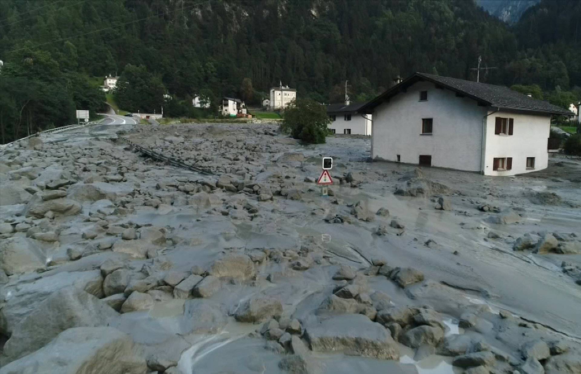
[[[143,374],[145,360],[125,333],[110,327],[77,327],[0,369],[0,374]]]

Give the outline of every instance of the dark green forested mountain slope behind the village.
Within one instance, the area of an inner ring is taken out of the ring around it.
[[[72,95],[74,79],[121,74],[128,64],[180,100],[237,95],[245,77],[256,92],[282,81],[324,102],[348,79],[352,97],[367,99],[414,71],[474,79],[479,55],[498,67],[482,81],[569,90],[581,85],[575,14],[579,1],[544,0],[510,27],[466,0],[3,0],[0,120],[12,124],[27,99],[10,92],[8,78],[50,83],[52,100],[68,92],[59,115],[42,97],[23,111],[33,125],[56,125],[91,101],[86,90]]]

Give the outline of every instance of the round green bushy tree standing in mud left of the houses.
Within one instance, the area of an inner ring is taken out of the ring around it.
[[[331,119],[325,106],[310,99],[293,100],[284,114],[281,131],[305,143],[325,143]]]

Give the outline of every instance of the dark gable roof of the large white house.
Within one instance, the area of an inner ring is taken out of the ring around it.
[[[423,72],[416,72],[403,82],[375,97],[375,99],[371,100],[364,107],[361,107],[360,111],[371,112],[376,106],[383,103],[383,101],[389,100],[390,97],[397,95],[401,90],[407,89],[418,81],[435,83],[436,87],[440,86],[441,88],[453,90],[460,95],[470,97],[471,99],[478,101],[478,103],[486,106],[546,114],[573,115],[572,112],[565,110],[564,108],[547,103],[547,101],[532,99],[532,97],[523,95],[522,93],[511,90],[505,86],[465,81],[464,79],[458,78],[440,77],[439,75],[426,74]]]

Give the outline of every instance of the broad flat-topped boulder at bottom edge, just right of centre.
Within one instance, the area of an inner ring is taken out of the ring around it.
[[[306,327],[306,339],[315,352],[398,360],[399,347],[390,332],[362,314],[345,314]]]

